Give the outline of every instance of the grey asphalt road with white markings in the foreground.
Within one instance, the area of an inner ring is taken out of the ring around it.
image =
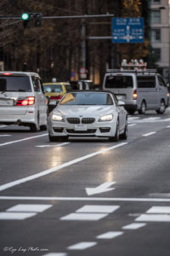
[[[127,141],[0,125],[0,255],[169,256],[170,108]]]

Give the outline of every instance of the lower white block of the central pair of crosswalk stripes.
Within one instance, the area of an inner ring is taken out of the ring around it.
[[[105,218],[108,214],[106,213],[70,213],[59,219],[61,220],[99,220]]]

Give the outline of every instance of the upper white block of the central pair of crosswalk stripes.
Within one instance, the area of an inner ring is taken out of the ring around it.
[[[78,209],[76,212],[105,212],[105,213],[111,213],[115,212],[119,206],[97,206],[97,205],[87,205],[80,209]]]

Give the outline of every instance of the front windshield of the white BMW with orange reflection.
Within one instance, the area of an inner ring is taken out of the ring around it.
[[[59,105],[113,105],[109,93],[68,93]]]

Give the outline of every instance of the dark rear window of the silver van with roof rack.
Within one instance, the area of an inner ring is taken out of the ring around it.
[[[132,76],[106,76],[105,88],[133,88]]]

